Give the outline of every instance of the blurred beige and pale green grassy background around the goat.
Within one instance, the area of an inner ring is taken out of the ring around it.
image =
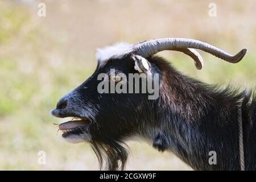
[[[38,3],[46,3],[46,17]],[[209,3],[217,16],[209,16]],[[245,58],[229,64],[201,52],[197,71],[181,53],[159,53],[179,71],[210,84],[255,86],[256,2],[251,1],[0,1],[0,169],[94,170],[89,144],[60,139],[56,125],[67,119],[49,111],[96,68],[95,51],[119,41],[151,38],[199,39]],[[176,156],[145,143],[129,142],[126,169],[191,170]],[[38,152],[46,152],[46,165]]]

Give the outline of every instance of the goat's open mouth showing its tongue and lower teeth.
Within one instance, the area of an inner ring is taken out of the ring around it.
[[[85,132],[85,129],[90,125],[90,120],[88,118],[73,118],[71,121],[61,123],[59,125],[59,130],[63,132],[62,137],[67,137],[71,134],[80,134]]]

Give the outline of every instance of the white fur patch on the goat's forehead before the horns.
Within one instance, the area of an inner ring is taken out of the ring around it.
[[[99,63],[104,63],[109,59],[118,59],[133,51],[133,44],[120,42],[115,43],[113,46],[98,48],[96,58]]]

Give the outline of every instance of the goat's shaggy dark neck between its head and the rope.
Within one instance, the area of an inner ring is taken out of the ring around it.
[[[164,72],[162,83],[158,119],[148,122],[154,126],[145,125],[145,137],[160,151],[174,152],[193,169],[239,170],[238,98],[175,70]],[[213,154],[217,164],[209,164]]]

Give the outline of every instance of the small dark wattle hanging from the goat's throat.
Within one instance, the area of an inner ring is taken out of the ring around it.
[[[153,147],[160,152],[163,152],[170,147],[170,140],[160,131],[153,142]]]

